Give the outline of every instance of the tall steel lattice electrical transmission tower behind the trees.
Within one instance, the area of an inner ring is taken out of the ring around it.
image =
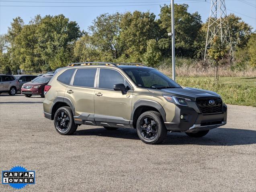
[[[225,0],[211,0],[204,61],[207,57],[208,50],[213,45],[213,40],[216,37],[219,37],[221,43],[225,44],[229,50],[229,56],[233,59],[233,48],[227,22]]]

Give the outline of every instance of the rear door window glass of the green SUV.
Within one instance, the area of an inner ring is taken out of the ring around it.
[[[78,69],[74,78],[74,86],[94,87],[96,68]]]

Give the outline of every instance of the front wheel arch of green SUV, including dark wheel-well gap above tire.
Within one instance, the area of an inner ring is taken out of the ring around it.
[[[136,128],[136,122],[139,118],[140,114],[146,111],[156,111],[159,112],[164,120],[166,122],[166,113],[164,111],[164,108],[162,105],[156,101],[153,100],[145,100],[141,99],[134,103],[133,110],[131,112],[131,121],[133,122],[133,127]]]

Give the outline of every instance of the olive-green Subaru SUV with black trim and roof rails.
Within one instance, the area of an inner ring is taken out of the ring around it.
[[[137,63],[70,64],[56,70],[44,94],[44,116],[63,135],[73,134],[81,124],[135,128],[143,142],[157,144],[168,131],[202,137],[227,121],[219,94],[182,88]]]

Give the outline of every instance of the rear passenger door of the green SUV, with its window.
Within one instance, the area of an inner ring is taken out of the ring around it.
[[[82,115],[83,119],[93,120],[97,70],[95,67],[76,69],[70,85],[66,88],[64,96],[74,104],[75,115]]]

